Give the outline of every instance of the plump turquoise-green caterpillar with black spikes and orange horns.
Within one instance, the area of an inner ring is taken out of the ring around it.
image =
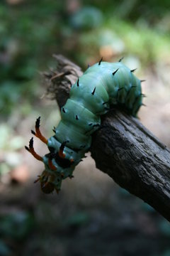
[[[35,159],[45,164],[45,170],[35,182],[40,182],[44,193],[60,191],[62,180],[73,177],[75,166],[82,161],[91,146],[91,134],[101,126],[101,114],[111,105],[123,106],[136,117],[142,105],[141,82],[126,65],[101,60],[88,67],[72,85],[70,97],[61,110],[61,121],[53,130],[55,135],[46,139],[40,132],[40,117],[35,122],[35,137],[44,142],[49,153],[37,154],[33,137],[26,149]]]

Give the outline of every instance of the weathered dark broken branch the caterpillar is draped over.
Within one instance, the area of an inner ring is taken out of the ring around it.
[[[54,57],[57,69],[44,75],[47,92],[62,107],[82,71],[62,55]],[[98,169],[170,221],[170,151],[137,119],[116,109],[103,115],[91,156]]]

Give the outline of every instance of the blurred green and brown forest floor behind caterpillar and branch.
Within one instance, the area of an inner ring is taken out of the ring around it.
[[[170,146],[169,0],[1,0],[0,255],[170,255],[170,225],[97,170],[90,155],[45,195],[43,165],[24,149],[35,119],[45,137],[60,120],[40,72],[62,53],[86,69],[103,56],[137,68],[140,121]],[[35,139],[41,155],[47,148]]]

